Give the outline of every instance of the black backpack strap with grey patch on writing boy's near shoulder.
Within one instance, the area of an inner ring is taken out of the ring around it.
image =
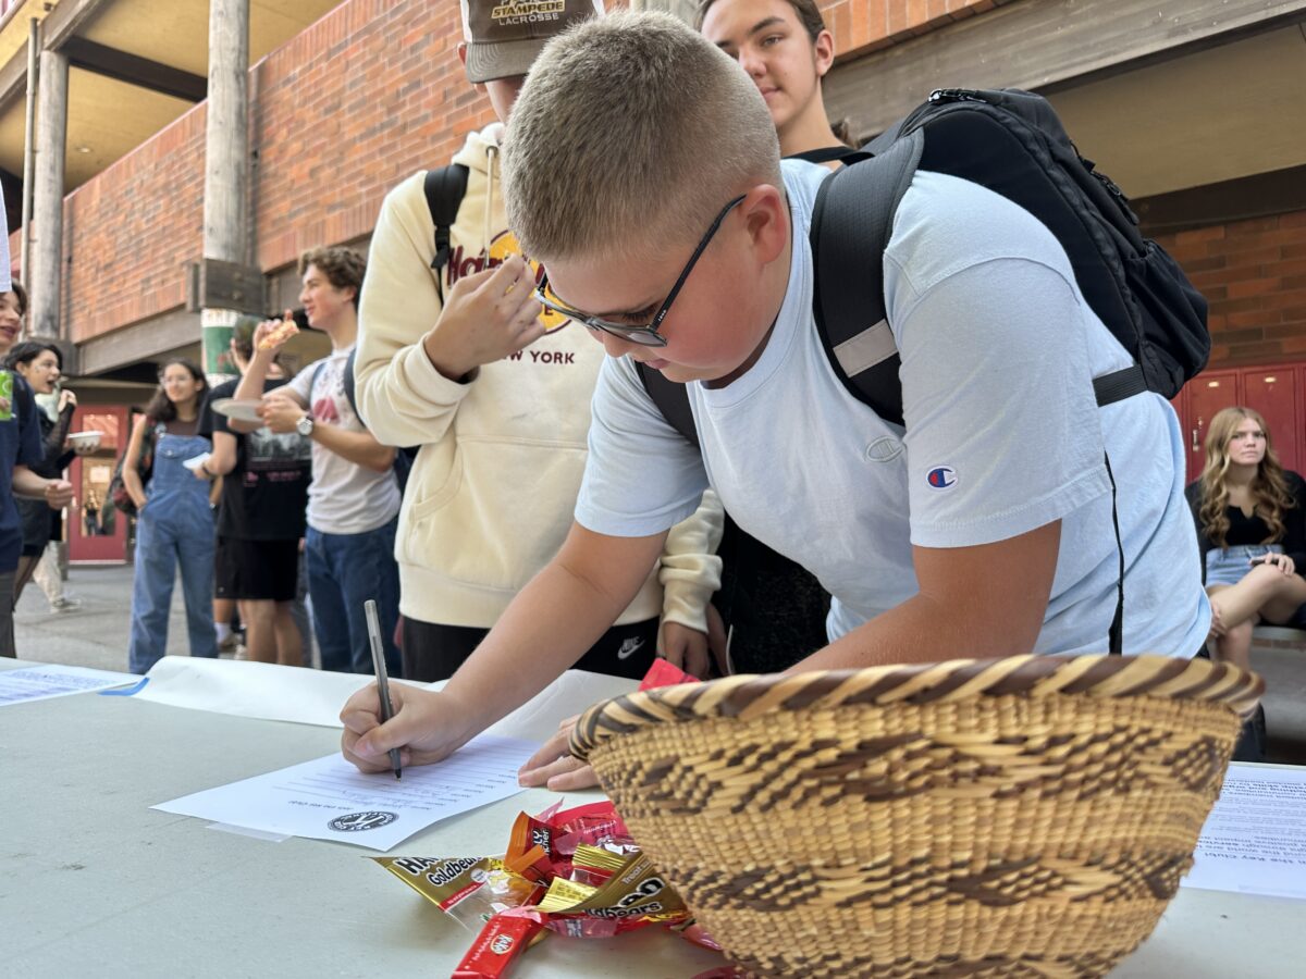
[[[844,386],[887,422],[902,424],[901,359],[884,309],[884,249],[893,214],[921,162],[917,129],[831,174],[816,194],[811,247],[814,313]]]

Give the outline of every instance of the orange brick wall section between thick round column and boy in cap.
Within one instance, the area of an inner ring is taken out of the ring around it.
[[[456,55],[458,8],[354,0],[256,68],[259,265],[372,230],[385,192],[494,120]]]

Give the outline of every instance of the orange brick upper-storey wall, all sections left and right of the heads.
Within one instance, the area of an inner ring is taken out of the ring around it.
[[[821,3],[842,56],[865,54],[1004,0]],[[609,7],[624,5],[614,0]],[[366,236],[385,192],[444,163],[494,119],[466,84],[452,3],[349,0],[251,70],[256,261]],[[64,319],[76,341],[185,302],[202,249],[202,104],[65,201]]]

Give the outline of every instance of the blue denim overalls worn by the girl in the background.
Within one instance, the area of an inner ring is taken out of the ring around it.
[[[213,629],[213,509],[209,483],[182,463],[209,452],[196,435],[168,435],[158,428],[154,473],[145,487],[145,506],[136,521],[136,581],[132,587],[132,638],[128,664],[133,674],[149,671],[167,651],[167,620],[172,581],[182,565],[185,623],[191,655],[218,655]]]

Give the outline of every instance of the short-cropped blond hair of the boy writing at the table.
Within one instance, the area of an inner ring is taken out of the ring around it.
[[[697,239],[780,142],[748,76],[670,14],[616,12],[559,35],[513,106],[508,223],[543,261],[649,257]]]

